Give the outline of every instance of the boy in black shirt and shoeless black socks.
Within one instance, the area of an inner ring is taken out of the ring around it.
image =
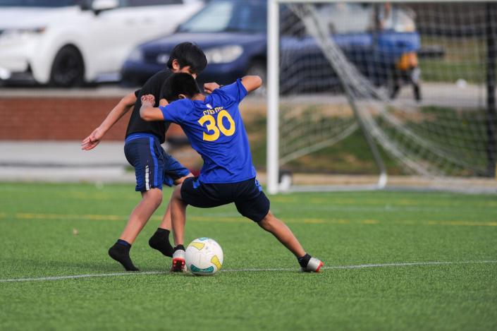
[[[106,116],[102,124],[90,136],[82,140],[81,144],[83,150],[95,148],[113,124],[116,124],[133,105],[135,106],[126,130],[124,152],[128,162],[135,168],[137,181],[135,191],[142,193],[142,200],[131,213],[128,224],[118,241],[109,248],[111,258],[121,263],[128,271],[138,270],[130,259],[129,251],[137,235],[161,204],[162,184],[178,185],[188,176],[192,176],[188,169],[171,155],[168,155],[161,147],[169,123],[142,120],[140,117],[140,107],[142,107],[140,99],[142,95],[154,95],[155,100],[161,100],[164,94],[161,91],[162,85],[172,73],[190,73],[196,78],[197,73],[200,73],[207,66],[207,59],[202,49],[196,44],[183,42],[174,47],[167,66],[167,69],[159,71],[149,78],[141,90],[123,97]],[[158,106],[159,104],[155,104],[155,107]],[[149,239],[149,245],[171,257],[173,248],[169,243],[170,231],[171,209],[168,205],[159,229]]]

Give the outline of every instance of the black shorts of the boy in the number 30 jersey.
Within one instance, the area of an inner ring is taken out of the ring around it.
[[[206,184],[197,177],[189,177],[181,186],[181,198],[199,208],[235,203],[238,212],[254,222],[262,221],[269,212],[269,199],[254,178],[238,183]]]

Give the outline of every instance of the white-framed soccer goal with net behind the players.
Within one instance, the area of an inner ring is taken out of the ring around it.
[[[497,192],[497,2],[268,1],[269,193]]]

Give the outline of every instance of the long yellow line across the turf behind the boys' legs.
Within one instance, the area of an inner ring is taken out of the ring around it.
[[[85,219],[92,221],[125,221],[128,216],[125,215],[98,215],[98,214],[86,214],[86,215],[71,215],[71,214],[43,214],[43,213],[25,213],[18,212],[13,215],[8,215],[5,212],[0,212],[1,219],[13,218],[13,219]],[[161,217],[154,216],[154,220],[160,220]],[[221,223],[245,223],[247,219],[244,217],[204,217],[204,216],[191,216],[188,217],[189,221],[193,222],[221,222]],[[397,224],[397,225],[441,225],[441,226],[454,226],[454,227],[497,227],[497,222],[470,222],[464,220],[446,220],[446,221],[436,221],[436,220],[425,220],[425,221],[415,221],[415,220],[403,220],[403,221],[380,221],[378,219],[362,219],[353,221],[350,219],[322,219],[322,218],[286,218],[284,219],[286,223],[295,224]]]

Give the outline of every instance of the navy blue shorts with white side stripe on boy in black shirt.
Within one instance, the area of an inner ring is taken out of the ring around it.
[[[162,184],[173,186],[176,179],[187,176],[190,171],[162,148],[159,138],[149,133],[134,133],[126,137],[124,144],[126,160],[135,168],[135,191],[150,188],[162,189]]]

